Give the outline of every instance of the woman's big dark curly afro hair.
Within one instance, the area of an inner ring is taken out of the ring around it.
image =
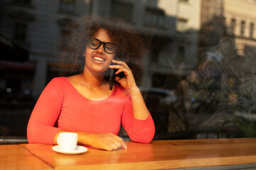
[[[85,60],[82,52],[87,46],[87,38],[91,38],[97,30],[104,28],[112,42],[117,45],[116,59],[126,62],[137,80],[142,76],[142,56],[144,43],[137,30],[121,19],[100,16],[84,16],[78,18],[67,27],[71,32],[60,42],[59,55],[63,60],[80,64],[83,68]]]

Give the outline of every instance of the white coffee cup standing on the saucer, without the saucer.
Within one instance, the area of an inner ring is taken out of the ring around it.
[[[57,137],[58,145],[63,151],[74,151],[78,145],[78,134],[74,132],[60,132]]]

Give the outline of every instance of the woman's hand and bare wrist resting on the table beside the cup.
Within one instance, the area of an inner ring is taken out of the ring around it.
[[[112,133],[78,132],[78,142],[82,145],[90,145],[90,147],[104,149],[107,151],[117,150],[120,148],[127,149],[124,140]]]

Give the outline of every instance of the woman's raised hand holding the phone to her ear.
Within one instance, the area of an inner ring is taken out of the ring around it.
[[[138,88],[134,79],[134,75],[132,74],[132,70],[128,67],[125,62],[119,60],[112,60],[116,65],[110,65],[110,69],[118,69],[115,74],[119,74],[120,72],[124,73],[124,77],[115,77],[115,81],[121,84],[124,89],[127,91],[131,91],[134,88]]]

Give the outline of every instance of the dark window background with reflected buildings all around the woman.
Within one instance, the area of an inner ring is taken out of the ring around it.
[[[46,84],[79,72],[58,43],[94,14],[142,33],[155,140],[256,137],[255,0],[0,0],[0,143],[26,142]]]

